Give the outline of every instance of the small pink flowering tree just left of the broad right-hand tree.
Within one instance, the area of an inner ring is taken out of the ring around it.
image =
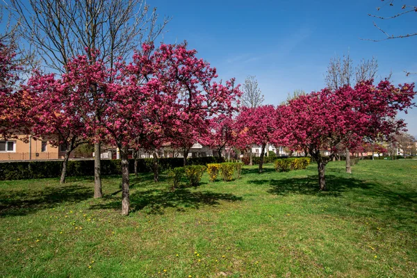
[[[279,115],[272,105],[263,105],[256,108],[242,108],[236,117],[236,130],[240,149],[251,147],[252,144],[261,146],[259,157],[259,173],[263,172],[263,157],[265,147],[270,142],[276,142],[275,132],[279,129]]]

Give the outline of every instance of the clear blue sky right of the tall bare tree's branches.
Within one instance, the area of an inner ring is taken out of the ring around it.
[[[393,34],[415,33],[417,13],[382,21],[368,13],[393,15],[404,3],[384,6],[380,0],[352,1],[149,1],[163,16],[172,16],[163,36],[166,43],[187,40],[198,56],[218,68],[222,79],[243,83],[255,75],[266,104],[279,104],[288,92],[325,87],[329,59],[350,51],[354,62],[375,56],[379,75],[392,70],[394,83],[417,81],[404,70],[417,72],[417,36],[383,42],[377,22]],[[376,7],[381,7],[377,12]],[[402,114],[409,133],[417,136],[417,108]]]

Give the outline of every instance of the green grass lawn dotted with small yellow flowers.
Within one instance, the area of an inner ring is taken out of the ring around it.
[[[165,175],[0,181],[3,277],[416,277],[417,161],[315,164],[175,191]]]

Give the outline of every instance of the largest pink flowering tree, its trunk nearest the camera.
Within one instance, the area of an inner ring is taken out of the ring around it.
[[[77,83],[88,76],[97,86],[99,101],[89,101],[85,90],[73,97],[74,114],[85,120],[85,136],[96,134],[120,149],[122,158],[122,214],[129,214],[129,161],[131,147],[150,149],[174,140],[183,126],[195,131],[206,128],[209,117],[234,111],[240,96],[234,81],[216,83],[215,68],[195,57],[186,45],[162,44],[158,49],[143,44],[132,63],[117,63],[107,70],[102,61],[84,56],[74,59],[77,68],[72,79]],[[70,71],[71,72],[71,71]],[[108,78],[108,77],[111,78]],[[85,86],[81,86],[85,87]],[[78,88],[78,86],[76,87]],[[100,117],[88,117],[105,104]],[[189,136],[188,133],[185,133]]]

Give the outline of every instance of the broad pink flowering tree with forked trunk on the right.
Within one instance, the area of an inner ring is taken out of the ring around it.
[[[381,81],[375,86],[367,81],[292,99],[282,110],[288,145],[309,152],[318,163],[320,190],[326,190],[325,166],[338,144],[354,149],[365,138],[388,140],[404,129],[404,121],[395,116],[414,105],[414,95],[414,84],[395,87]],[[329,156],[323,156],[325,150]]]

